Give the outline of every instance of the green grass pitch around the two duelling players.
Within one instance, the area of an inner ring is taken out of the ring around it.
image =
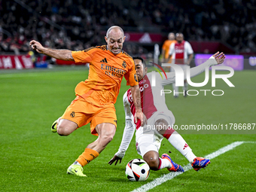
[[[218,80],[206,87],[190,90],[224,90],[224,96],[188,96],[174,99],[170,94],[166,102],[182,124],[256,123],[255,71],[235,72],[228,87]],[[0,190],[1,191],[131,191],[168,170],[151,172],[145,182],[131,182],[125,177],[126,163],[140,158],[136,153],[135,138],[121,164],[109,166],[108,160],[117,151],[123,133],[123,93],[128,89],[122,82],[118,96],[117,133],[96,160],[84,167],[87,178],[67,175],[66,169],[96,139],[84,126],[68,137],[50,132],[51,123],[65,111],[75,98],[75,85],[87,78],[84,67],[23,71],[0,71]],[[203,81],[204,76],[193,78]],[[171,87],[166,87],[171,89]],[[256,141],[254,130],[246,134],[236,131],[198,132],[184,131],[182,136],[198,156],[205,156],[236,141]],[[182,133],[182,131],[179,131]],[[200,134],[202,133],[202,134]],[[220,134],[221,133],[221,134]],[[249,134],[248,134],[249,133]],[[232,151],[212,159],[207,169],[193,169],[150,191],[255,191],[256,144],[242,144]],[[160,154],[172,151],[172,159],[181,165],[187,160],[166,140]]]

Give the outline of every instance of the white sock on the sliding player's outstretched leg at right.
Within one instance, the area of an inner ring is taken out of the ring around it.
[[[178,134],[176,131],[172,133],[168,141],[175,147],[190,163],[193,163],[194,158],[197,156],[194,155],[192,149],[187,145],[187,142]],[[191,162],[192,161],[192,162]]]

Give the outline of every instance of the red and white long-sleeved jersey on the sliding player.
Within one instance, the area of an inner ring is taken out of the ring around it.
[[[196,75],[204,72],[206,68],[217,65],[215,58],[213,56],[210,57],[206,62],[201,64],[200,66],[194,67],[190,69],[190,78],[193,78]],[[187,71],[185,72],[187,73]],[[168,107],[166,105],[165,94],[162,92],[164,90],[164,86],[167,84],[175,83],[175,72],[167,72],[165,75],[160,75],[156,72],[150,72],[145,77],[139,81],[139,90],[141,93],[142,100],[142,111],[149,119],[156,111],[168,111]],[[184,74],[184,79],[187,78],[187,75]],[[154,84],[152,84],[154,82]],[[126,91],[123,95],[123,106],[126,114],[126,119],[133,120],[134,114],[136,112],[133,96],[131,94],[130,89]],[[139,129],[140,120],[137,121],[136,129]]]

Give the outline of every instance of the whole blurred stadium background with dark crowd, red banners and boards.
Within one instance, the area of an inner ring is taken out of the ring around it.
[[[84,50],[105,44],[105,32],[113,25],[123,28],[123,49],[132,56],[158,57],[168,33],[182,32],[194,53],[239,54],[247,59],[245,69],[255,69],[255,10],[254,0],[0,0],[0,69],[31,67],[25,57],[17,57],[17,64],[5,55],[27,55],[34,64],[56,64],[29,53],[32,39],[46,47]]]

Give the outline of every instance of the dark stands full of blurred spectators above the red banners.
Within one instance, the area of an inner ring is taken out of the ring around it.
[[[26,8],[0,0],[0,32],[4,30],[0,46],[4,52],[26,52],[29,39],[49,41],[56,49],[74,50],[76,41],[96,46],[104,43],[100,32],[112,25],[124,26],[127,32],[175,30],[189,41],[221,40],[236,53],[256,52],[254,0],[193,0],[189,5],[168,0],[133,0],[129,4],[114,0],[23,2]]]

